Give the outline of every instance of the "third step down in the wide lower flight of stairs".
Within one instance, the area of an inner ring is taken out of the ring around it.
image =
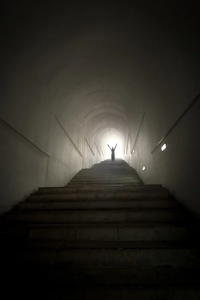
[[[174,200],[89,200],[89,201],[36,201],[20,202],[18,210],[94,210],[94,209],[172,209],[178,208]]]

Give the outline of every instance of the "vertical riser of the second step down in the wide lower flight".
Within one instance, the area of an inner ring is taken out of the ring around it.
[[[96,188],[97,189],[97,188]],[[58,193],[58,194],[33,194],[29,196],[30,201],[54,201],[54,200],[118,200],[118,199],[167,199],[168,193],[163,191],[152,192],[77,192],[77,193]]]

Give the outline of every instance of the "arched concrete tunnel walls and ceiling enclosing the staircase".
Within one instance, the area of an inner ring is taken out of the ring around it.
[[[4,1],[0,212],[116,157],[200,214],[199,32],[171,1]],[[166,144],[164,151],[161,150]]]

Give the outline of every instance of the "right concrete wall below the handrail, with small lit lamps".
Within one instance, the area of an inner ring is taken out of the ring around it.
[[[160,145],[152,151],[150,138],[153,132],[149,129],[150,120],[145,113],[134,144],[134,153],[129,152],[126,155],[126,161],[129,163],[131,160],[129,164],[136,168],[144,184],[162,184],[184,206],[198,215],[200,215],[199,115],[198,98]],[[167,147],[162,152],[161,146],[164,143]]]

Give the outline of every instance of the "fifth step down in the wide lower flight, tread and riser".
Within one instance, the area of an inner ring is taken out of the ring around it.
[[[187,241],[199,236],[197,224],[180,223],[68,223],[4,225],[0,230],[2,240],[79,240],[79,241]]]

